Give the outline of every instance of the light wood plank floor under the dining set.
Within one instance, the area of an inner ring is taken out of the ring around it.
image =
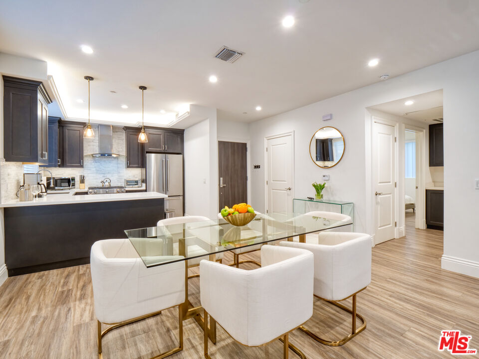
[[[290,341],[308,358],[453,358],[437,350],[440,331],[452,329],[472,335],[470,348],[479,349],[479,279],[441,270],[443,232],[414,229],[413,220],[408,214],[406,237],[373,248],[372,283],[358,295],[366,330],[337,348],[295,331]],[[199,280],[190,283],[198,303]],[[146,359],[176,346],[176,316],[168,310],[113,331],[104,338],[104,358]],[[349,316],[318,300],[307,326],[339,339],[349,323]],[[98,358],[89,266],[8,278],[0,287],[0,328],[0,358]],[[171,358],[203,358],[198,324],[186,321],[184,333],[184,351]],[[280,342],[245,348],[221,327],[210,351],[217,359],[282,358]],[[297,357],[290,352],[290,358]]]

